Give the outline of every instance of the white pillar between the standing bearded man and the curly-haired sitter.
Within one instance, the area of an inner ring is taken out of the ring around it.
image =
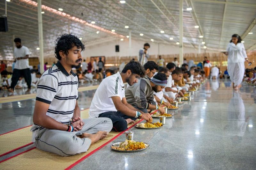
[[[39,62],[40,62],[40,73],[44,73],[44,42],[43,42],[43,20],[42,20],[42,2],[37,0],[37,14],[38,14],[38,35],[39,35]]]

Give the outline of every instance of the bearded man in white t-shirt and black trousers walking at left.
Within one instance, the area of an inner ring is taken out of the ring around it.
[[[14,49],[14,57],[16,59],[16,63],[14,65],[13,73],[12,73],[12,84],[11,88],[8,89],[10,92],[14,92],[14,87],[19,81],[20,76],[24,76],[25,81],[28,85],[27,92],[30,91],[31,88],[31,74],[28,64],[28,55],[30,54],[28,47],[21,45],[21,39],[14,39],[15,45],[17,48]]]

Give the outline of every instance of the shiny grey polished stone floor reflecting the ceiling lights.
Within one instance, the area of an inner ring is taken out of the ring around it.
[[[125,140],[121,135],[73,169],[255,169],[256,88],[244,84],[234,92],[230,85],[229,80],[207,81],[191,102],[168,111],[174,116],[162,128],[133,127],[134,140],[150,145],[145,151],[110,150],[112,143]],[[94,92],[79,92],[81,109],[90,106]],[[33,99],[0,104],[0,133],[32,124],[34,103]]]

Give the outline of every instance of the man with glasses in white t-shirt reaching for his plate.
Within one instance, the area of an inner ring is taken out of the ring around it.
[[[113,122],[114,131],[124,131],[137,118],[152,121],[148,113],[143,113],[128,104],[124,94],[124,83],[132,86],[143,77],[145,71],[139,62],[131,60],[122,70],[101,81],[93,96],[90,117],[108,117]]]

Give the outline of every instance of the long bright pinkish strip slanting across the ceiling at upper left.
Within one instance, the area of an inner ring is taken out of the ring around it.
[[[35,1],[31,1],[31,0],[20,0],[20,1],[37,7],[37,2],[35,2]],[[61,12],[61,11],[55,10],[55,9],[50,8],[48,6],[45,6],[45,5],[42,5],[41,8],[44,9],[45,11],[52,12],[52,13],[54,13],[56,15],[60,15],[62,17],[68,18],[68,19],[76,21],[76,22],[80,22],[81,24],[88,25],[88,26],[90,26],[92,28],[95,28],[95,29],[98,29],[100,31],[107,32],[107,33],[110,33],[110,34],[113,34],[113,35],[117,35],[119,37],[124,38],[124,35],[117,34],[116,32],[111,32],[111,31],[109,31],[109,30],[107,30],[105,28],[102,28],[102,27],[94,25],[94,24],[90,24],[90,23],[84,21],[83,19],[79,19],[79,18],[73,17],[73,16],[71,16],[71,15],[65,13],[65,12]]]

